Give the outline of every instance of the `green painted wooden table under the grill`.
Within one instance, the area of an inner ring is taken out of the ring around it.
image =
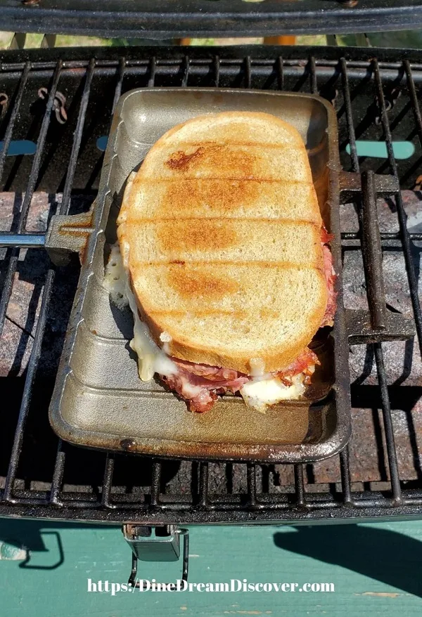
[[[334,592],[88,592],[125,583],[131,552],[120,528],[0,519],[0,615],[163,617],[422,613],[422,521],[319,526],[191,527],[189,580],[334,583]],[[29,554],[29,559],[27,559]],[[145,578],[181,564],[139,562]]]

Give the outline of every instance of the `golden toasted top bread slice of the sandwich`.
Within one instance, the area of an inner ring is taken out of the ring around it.
[[[305,145],[281,119],[175,126],[128,182],[117,224],[141,317],[172,356],[282,370],[319,328],[321,215]]]

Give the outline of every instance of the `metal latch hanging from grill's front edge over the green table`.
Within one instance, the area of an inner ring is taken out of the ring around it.
[[[138,560],[177,561],[180,557],[180,536],[183,535],[182,581],[188,580],[189,532],[176,525],[143,526],[133,523],[123,525],[124,540],[132,549],[132,570],[128,584],[147,590],[146,581],[138,576]],[[168,585],[169,583],[165,583]],[[171,584],[171,583],[170,583]],[[177,585],[177,583],[172,583]]]

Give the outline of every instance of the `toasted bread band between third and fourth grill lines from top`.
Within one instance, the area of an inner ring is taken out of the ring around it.
[[[309,221],[276,219],[127,220],[136,226],[134,263],[256,261],[322,268],[319,228]]]

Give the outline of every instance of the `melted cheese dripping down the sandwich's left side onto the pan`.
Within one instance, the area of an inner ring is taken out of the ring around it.
[[[110,259],[108,260],[104,276],[104,285],[110,292],[111,299],[115,304],[120,306],[120,308],[129,305],[134,315],[134,337],[129,345],[138,356],[139,378],[143,382],[149,382],[155,372],[165,376],[177,373],[177,366],[170,360],[165,351],[160,349],[155,343],[148,325],[139,318],[136,299],[129,285],[129,277],[126,268],[124,268],[120,248],[117,244],[111,247]],[[167,345],[169,342],[168,336],[165,337],[167,338]]]

